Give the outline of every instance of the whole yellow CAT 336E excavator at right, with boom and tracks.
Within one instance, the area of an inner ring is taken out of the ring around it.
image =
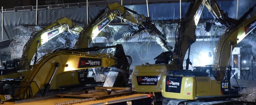
[[[162,95],[172,98],[167,99],[165,104],[255,105],[255,102],[228,100],[239,97],[239,89],[231,88],[230,85],[231,63],[228,63],[229,58],[235,46],[255,29],[256,15],[246,19],[255,6],[250,8],[233,27],[228,28],[220,37],[214,56],[213,76],[209,76],[205,71],[190,70],[170,70],[167,75],[163,76]]]

